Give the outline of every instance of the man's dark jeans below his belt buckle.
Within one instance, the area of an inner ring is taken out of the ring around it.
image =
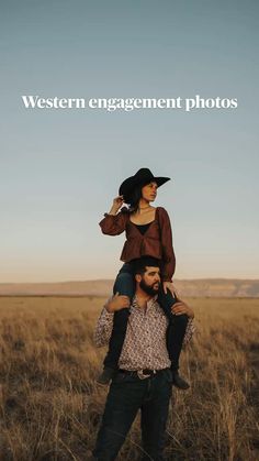
[[[155,376],[139,380],[119,372],[112,381],[98,433],[93,457],[98,461],[112,461],[122,447],[137,415],[142,411],[143,461],[162,461],[165,431],[172,389],[169,369]]]

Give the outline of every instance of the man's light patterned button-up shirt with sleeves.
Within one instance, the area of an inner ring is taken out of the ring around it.
[[[147,308],[140,308],[134,297],[130,307],[126,336],[119,367],[123,370],[161,370],[169,367],[166,331],[168,318],[155,298],[147,301]],[[109,344],[113,328],[113,312],[108,312],[105,306],[99,317],[94,331],[94,342],[98,348]],[[194,332],[193,320],[189,319],[183,344],[187,344]]]

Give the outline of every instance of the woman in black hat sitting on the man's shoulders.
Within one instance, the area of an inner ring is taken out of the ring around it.
[[[133,277],[134,260],[148,255],[160,261],[161,289],[158,303],[169,318],[168,352],[171,360],[173,384],[182,389],[189,384],[179,375],[179,355],[188,323],[188,315],[173,315],[171,307],[178,301],[171,283],[176,268],[176,257],[172,248],[171,226],[167,211],[161,207],[153,207],[150,202],[156,199],[157,188],[168,177],[155,177],[148,168],[140,168],[134,176],[125,179],[119,190],[120,196],[113,200],[109,213],[100,222],[104,234],[119,235],[125,231],[126,241],[121,260],[124,262],[117,274],[113,293],[128,296],[132,300],[135,293]],[[120,208],[123,202],[130,208]],[[173,295],[172,295],[173,293]],[[190,309],[190,316],[192,311]],[[104,369],[99,376],[100,384],[108,384],[117,370],[117,362],[126,333],[128,308],[123,308],[114,314],[113,331],[110,340],[109,352],[104,360]]]

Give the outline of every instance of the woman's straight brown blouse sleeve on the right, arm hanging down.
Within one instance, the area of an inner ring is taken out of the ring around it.
[[[176,256],[172,248],[170,218],[165,208],[159,212],[160,238],[162,248],[162,281],[170,282],[176,271]]]

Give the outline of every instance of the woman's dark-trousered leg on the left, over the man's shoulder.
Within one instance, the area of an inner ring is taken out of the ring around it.
[[[135,282],[133,278],[133,271],[131,264],[124,264],[117,274],[113,286],[113,294],[128,296],[133,299],[135,294]],[[122,352],[123,342],[126,334],[127,319],[130,309],[124,308],[114,314],[113,330],[109,343],[109,351],[104,359],[104,366],[110,369],[117,369],[117,362]]]

